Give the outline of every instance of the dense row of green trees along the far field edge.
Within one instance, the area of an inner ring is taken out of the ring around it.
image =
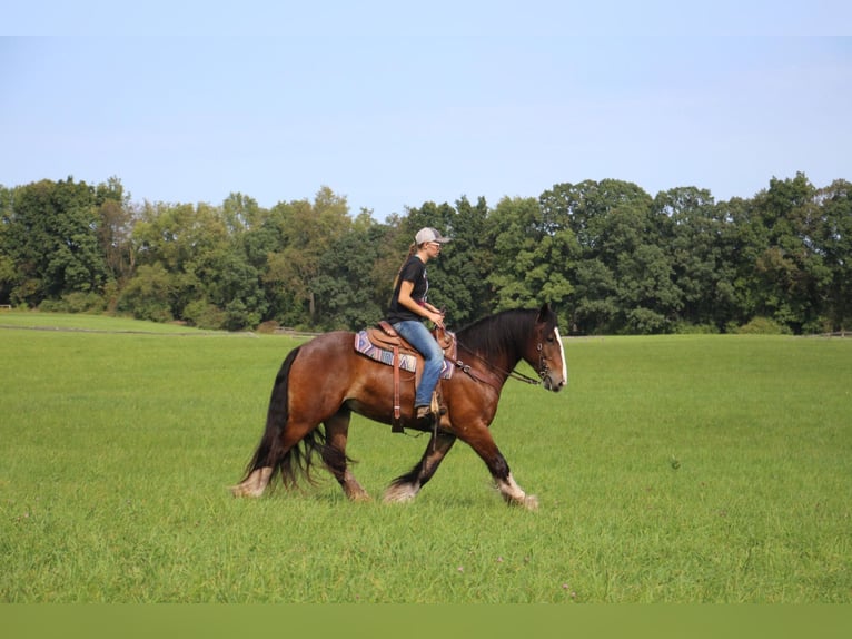
[[[0,186],[0,304],[204,328],[357,330],[382,318],[416,230],[454,237],[429,263],[450,328],[549,302],[575,334],[850,326],[852,185],[802,173],[749,199],[652,197],[615,179],[496,206],[426,201],[384,222],[321,187],[262,208],[132,201],[121,181]]]

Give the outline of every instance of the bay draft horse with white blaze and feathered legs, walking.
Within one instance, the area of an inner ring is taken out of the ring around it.
[[[537,498],[513,479],[489,425],[509,377],[552,392],[567,383],[556,324],[556,314],[544,304],[539,309],[503,311],[459,330],[455,334],[457,358],[447,362],[453,375],[439,383],[446,412],[436,414],[434,423],[415,419],[413,375],[406,375],[410,383],[400,384],[395,406],[394,368],[356,352],[355,333],[336,331],[314,337],[284,360],[273,386],[266,429],[241,482],[231,488],[232,494],[260,497],[278,474],[286,488],[296,486],[299,479],[313,483],[311,466],[318,453],[347,498],[369,500],[346,455],[349,419],[355,412],[393,424],[396,409],[404,427],[432,436],[419,462],[387,488],[385,502],[413,500],[456,440],[462,440],[485,462],[507,504],[535,510]],[[515,371],[522,360],[538,380]]]

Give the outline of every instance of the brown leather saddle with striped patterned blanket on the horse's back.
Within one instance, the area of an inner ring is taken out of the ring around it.
[[[438,327],[435,327],[432,334],[444,351],[445,360],[440,379],[449,379],[453,375],[454,367],[447,362],[447,358],[450,362],[456,358],[456,336],[454,333]],[[394,367],[394,419],[392,421],[392,430],[395,433],[403,432],[403,424],[400,422],[402,406],[399,403],[399,371],[413,371],[415,373],[415,385],[418,384],[423,365],[417,366],[417,362],[422,362],[423,356],[385,320],[378,322],[376,326],[356,334],[355,350]],[[440,379],[438,380],[436,393],[440,393]]]

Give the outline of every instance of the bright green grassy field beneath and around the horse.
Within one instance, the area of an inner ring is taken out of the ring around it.
[[[0,325],[2,602],[852,601],[849,340],[568,341],[568,387],[509,381],[492,426],[531,513],[462,443],[383,504],[426,438],[359,417],[375,502],[235,500],[295,340]]]

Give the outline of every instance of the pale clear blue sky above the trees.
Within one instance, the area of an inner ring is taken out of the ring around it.
[[[586,179],[717,201],[852,180],[848,1],[14,4],[6,187],[261,207],[328,187],[383,220]]]

